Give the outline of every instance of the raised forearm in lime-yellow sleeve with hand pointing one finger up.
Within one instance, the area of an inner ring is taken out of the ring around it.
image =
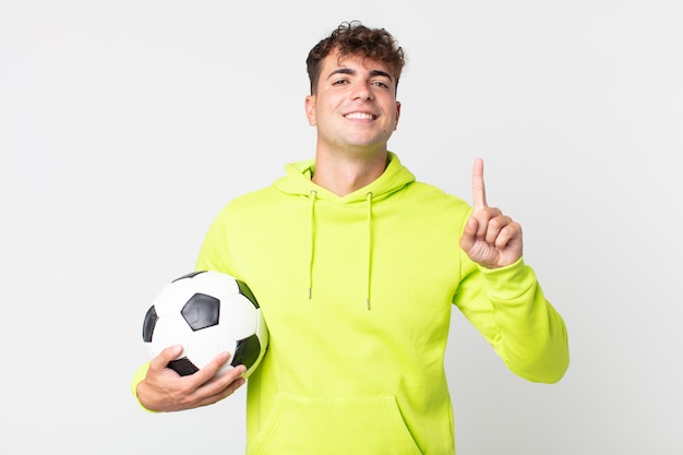
[[[529,381],[556,382],[570,362],[564,321],[522,259],[522,227],[488,206],[481,159],[475,161],[472,194],[460,248],[468,256],[464,263],[469,259],[476,266],[455,302],[513,372]]]

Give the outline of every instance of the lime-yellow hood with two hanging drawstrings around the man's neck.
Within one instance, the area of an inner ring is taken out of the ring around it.
[[[315,160],[308,159],[285,166],[286,175],[274,182],[274,187],[279,191],[298,196],[308,197],[310,201],[309,226],[310,226],[310,248],[309,248],[309,270],[308,270],[308,298],[312,298],[313,292],[313,267],[315,265],[315,234],[319,228],[315,219],[315,204],[320,201],[337,205],[356,207],[366,204],[367,213],[367,256],[366,262],[366,307],[370,310],[370,298],[372,294],[372,205],[390,197],[400,191],[406,185],[415,181],[415,176],[400,164],[398,157],[388,152],[388,164],[386,169],[372,183],[360,188],[344,196],[338,196],[333,192],[320,187],[311,180],[315,172]],[[323,227],[324,228],[324,227]],[[360,239],[359,239],[360,240]],[[355,259],[349,259],[355,260]]]

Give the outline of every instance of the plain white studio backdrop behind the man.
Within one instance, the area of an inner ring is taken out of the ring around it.
[[[466,200],[483,157],[568,327],[532,384],[454,313],[458,455],[683,453],[683,2],[0,0],[2,453],[243,453],[243,390],[137,407],[142,318],[312,156],[305,56],[355,19],[408,53],[391,149]]]

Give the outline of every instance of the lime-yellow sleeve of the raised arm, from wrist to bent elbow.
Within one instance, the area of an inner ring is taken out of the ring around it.
[[[570,363],[567,332],[534,271],[523,259],[489,270],[463,255],[470,268],[454,303],[515,374],[531,382],[560,381]]]

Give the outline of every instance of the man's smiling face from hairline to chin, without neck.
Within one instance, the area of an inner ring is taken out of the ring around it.
[[[384,62],[331,53],[305,112],[317,129],[319,149],[385,151],[400,113],[395,77]]]

